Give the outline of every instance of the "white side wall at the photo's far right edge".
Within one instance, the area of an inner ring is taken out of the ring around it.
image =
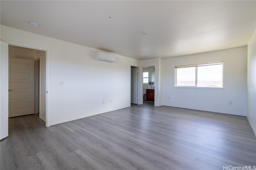
[[[256,134],[256,31],[248,43],[247,119]]]

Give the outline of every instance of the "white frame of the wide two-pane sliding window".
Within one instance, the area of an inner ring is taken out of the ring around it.
[[[222,64],[222,87],[198,87],[198,66],[210,66],[210,65],[218,65]],[[186,68],[186,67],[195,67],[195,86],[177,86],[177,68]],[[184,65],[184,66],[174,66],[174,72],[175,72],[175,82],[174,87],[175,88],[201,88],[201,89],[224,89],[224,62],[218,61],[214,63],[204,63],[204,64],[191,64],[191,65]]]

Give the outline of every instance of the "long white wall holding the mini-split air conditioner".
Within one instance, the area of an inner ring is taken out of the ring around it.
[[[4,25],[1,39],[48,49],[48,126],[130,106],[130,65],[138,60],[116,55],[115,63],[95,61],[96,49]]]

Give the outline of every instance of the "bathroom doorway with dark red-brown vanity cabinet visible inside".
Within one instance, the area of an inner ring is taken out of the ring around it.
[[[155,66],[144,66],[142,68],[143,82],[143,104],[154,104],[155,102]]]

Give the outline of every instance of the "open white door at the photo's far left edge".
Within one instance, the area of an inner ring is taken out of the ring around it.
[[[8,136],[8,44],[1,41],[0,57],[0,140]]]

